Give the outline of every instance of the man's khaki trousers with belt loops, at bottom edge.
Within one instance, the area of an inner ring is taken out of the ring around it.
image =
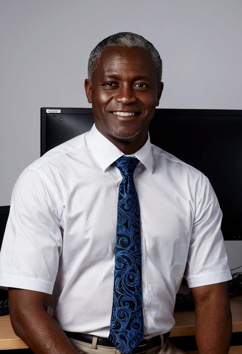
[[[92,344],[77,341],[69,338],[70,343],[79,354],[121,354],[116,348],[96,346],[97,337],[93,336]],[[154,348],[148,349],[146,354],[184,354],[184,352],[174,346],[169,339],[163,343],[163,335],[161,335],[161,344]]]

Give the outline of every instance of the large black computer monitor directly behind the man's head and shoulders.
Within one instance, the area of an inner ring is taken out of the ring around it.
[[[93,123],[91,108],[41,108],[41,155]],[[209,178],[224,240],[242,240],[242,110],[156,109],[149,133],[151,143]]]

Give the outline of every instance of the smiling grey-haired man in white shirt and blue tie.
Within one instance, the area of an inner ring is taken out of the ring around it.
[[[0,285],[15,333],[36,354],[183,353],[168,336],[184,272],[200,354],[228,353],[217,198],[201,172],[149,140],[161,65],[139,35],[100,42],[85,80],[95,125],[15,185]]]

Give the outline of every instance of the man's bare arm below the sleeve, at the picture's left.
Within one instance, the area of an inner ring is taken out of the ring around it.
[[[51,295],[16,288],[8,288],[8,294],[13,330],[35,354],[77,354],[47,313]]]

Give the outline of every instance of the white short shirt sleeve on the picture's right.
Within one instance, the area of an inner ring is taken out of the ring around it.
[[[220,229],[221,220],[218,199],[208,178],[203,175],[185,269],[190,288],[232,279]]]

